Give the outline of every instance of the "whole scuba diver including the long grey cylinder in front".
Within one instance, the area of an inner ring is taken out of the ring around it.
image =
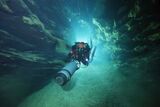
[[[88,66],[93,61],[95,51],[96,47],[92,47],[92,41],[90,46],[85,42],[75,42],[66,59],[68,63],[56,74],[56,82],[61,86],[65,85],[81,68],[81,63]]]

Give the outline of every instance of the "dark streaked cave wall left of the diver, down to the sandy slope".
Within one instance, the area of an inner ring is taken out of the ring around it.
[[[0,1],[1,107],[16,107],[48,84],[65,64],[68,46],[60,29],[67,24],[50,3]]]

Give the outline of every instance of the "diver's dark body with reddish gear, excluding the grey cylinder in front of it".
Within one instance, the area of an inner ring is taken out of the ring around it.
[[[68,58],[70,60],[77,60],[79,63],[82,62],[84,65],[88,66],[90,60],[90,51],[91,48],[89,47],[88,43],[75,42],[68,54]]]

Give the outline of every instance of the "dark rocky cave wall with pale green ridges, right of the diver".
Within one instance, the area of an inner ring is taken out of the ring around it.
[[[114,39],[113,45],[119,47],[115,50],[116,55],[121,60],[159,52],[159,1],[101,0],[97,8],[103,8],[100,14],[95,14],[95,19],[103,29],[100,31],[103,33],[101,41]],[[105,35],[107,32],[110,37]]]

